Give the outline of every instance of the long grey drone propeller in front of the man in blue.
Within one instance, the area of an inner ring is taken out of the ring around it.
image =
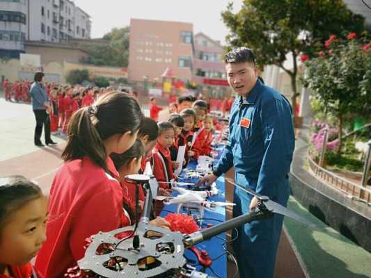
[[[271,199],[269,199],[269,197],[255,193],[255,191],[251,189],[243,188],[242,186],[239,186],[238,184],[231,181],[230,179],[227,179],[227,181],[232,185],[236,186],[237,188],[244,190],[246,193],[255,196],[267,208],[268,211],[287,216],[289,218],[302,222],[303,224],[306,224],[309,227],[315,227],[315,224],[313,224],[312,222],[306,220],[305,218],[302,218],[300,215],[297,215],[297,213],[289,211],[287,208],[285,208],[285,206],[282,206],[281,204],[272,201]]]

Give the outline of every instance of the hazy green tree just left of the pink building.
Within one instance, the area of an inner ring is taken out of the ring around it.
[[[88,59],[86,63],[93,65],[109,65],[113,67],[127,67],[129,63],[129,27],[113,28],[103,36],[106,45],[86,46]]]

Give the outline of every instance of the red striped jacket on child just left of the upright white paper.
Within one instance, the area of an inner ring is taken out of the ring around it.
[[[173,165],[171,165],[171,155],[168,148],[162,147],[159,142],[152,150],[153,154],[153,175],[159,182],[159,186],[164,189],[171,188],[170,183],[161,183],[160,181],[170,182],[174,179]]]

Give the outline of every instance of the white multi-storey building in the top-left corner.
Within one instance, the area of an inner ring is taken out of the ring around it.
[[[90,38],[90,16],[70,0],[0,0],[0,57],[17,58],[24,41]]]

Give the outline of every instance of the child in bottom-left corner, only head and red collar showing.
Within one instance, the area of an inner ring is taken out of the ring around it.
[[[47,198],[21,176],[0,178],[0,278],[40,278],[30,261],[46,239]]]

